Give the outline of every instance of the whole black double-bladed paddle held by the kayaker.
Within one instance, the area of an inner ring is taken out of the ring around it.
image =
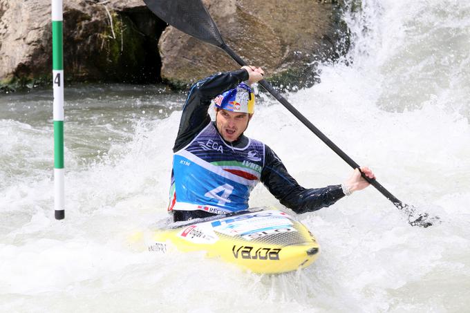
[[[247,65],[241,57],[239,57],[234,51],[229,48],[223,41],[220,32],[216,26],[216,23],[209,15],[209,12],[203,5],[200,0],[144,0],[147,4],[147,7],[156,14],[160,19],[167,22],[169,25],[174,28],[178,28],[182,32],[185,32],[188,35],[196,37],[201,41],[207,42],[207,44],[212,44],[225,51],[232,59],[234,59],[241,66]],[[259,82],[263,88],[271,95],[273,95],[285,108],[287,108],[290,113],[295,115],[305,126],[310,129],[317,137],[320,138],[327,146],[335,151],[341,159],[353,167],[353,169],[359,169],[359,164],[353,161],[346,153],[341,151],[339,147],[334,144],[326,135],[321,133],[317,127],[315,127],[306,117],[304,117],[299,111],[297,111],[292,104],[288,102],[280,93],[278,93],[268,82],[264,79]],[[408,223],[412,226],[420,227],[429,227],[432,224],[428,218],[428,214],[420,214],[416,218],[413,216],[415,214],[415,209],[409,205],[404,204],[402,201],[398,200],[393,196],[390,191],[385,189],[382,184],[379,184],[377,180],[370,179],[361,173],[362,177],[370,182],[373,187],[375,187],[380,193],[382,193],[388,200],[390,200],[397,209],[404,211],[408,214]]]

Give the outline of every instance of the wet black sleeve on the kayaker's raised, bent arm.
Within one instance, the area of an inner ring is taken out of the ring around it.
[[[180,126],[173,152],[184,148],[211,122],[207,110],[212,99],[220,93],[235,88],[247,79],[247,70],[234,70],[212,75],[194,84],[189,91],[185,106],[182,108]]]

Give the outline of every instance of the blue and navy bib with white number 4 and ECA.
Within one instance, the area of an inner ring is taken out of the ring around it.
[[[209,123],[173,155],[169,211],[225,214],[247,209],[261,178],[264,150],[262,142],[252,139],[241,149],[229,146]]]

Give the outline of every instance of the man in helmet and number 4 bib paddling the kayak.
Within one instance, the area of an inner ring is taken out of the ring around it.
[[[343,184],[303,188],[269,146],[243,135],[254,114],[250,86],[263,75],[261,68],[243,66],[200,80],[189,91],[173,146],[168,211],[175,222],[247,209],[260,181],[298,214],[328,207],[368,186],[355,169]],[[211,103],[215,121],[208,113]],[[368,167],[361,171],[375,178]]]

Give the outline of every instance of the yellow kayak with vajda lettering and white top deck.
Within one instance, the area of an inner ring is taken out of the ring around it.
[[[138,234],[134,240],[141,240]],[[317,240],[297,219],[275,209],[250,209],[234,214],[174,223],[151,231],[150,252],[167,254],[205,251],[255,273],[274,274],[307,267],[319,256]]]

